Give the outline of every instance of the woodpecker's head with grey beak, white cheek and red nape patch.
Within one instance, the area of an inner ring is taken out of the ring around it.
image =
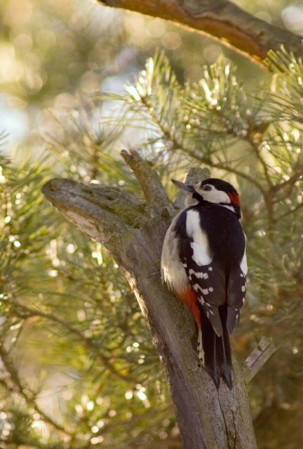
[[[231,209],[237,217],[241,218],[240,197],[232,185],[222,179],[208,178],[195,186],[181,183],[172,179],[178,188],[186,192],[186,206],[195,206],[199,203],[213,203]]]

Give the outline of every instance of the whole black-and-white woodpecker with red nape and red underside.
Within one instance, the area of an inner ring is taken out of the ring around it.
[[[162,279],[195,317],[202,365],[217,388],[222,377],[232,389],[229,335],[239,323],[247,275],[239,195],[221,179],[195,186],[172,181],[186,192],[186,207],[167,230]]]

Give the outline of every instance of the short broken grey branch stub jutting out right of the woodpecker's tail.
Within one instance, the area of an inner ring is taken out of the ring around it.
[[[247,357],[242,367],[244,379],[247,384],[263,367],[276,349],[269,338],[263,337],[261,339],[258,346]]]

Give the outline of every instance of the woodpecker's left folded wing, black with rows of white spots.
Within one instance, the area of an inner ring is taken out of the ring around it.
[[[207,245],[183,239],[179,257],[196,297],[218,337],[223,333],[218,306],[226,301],[225,272],[208,253]]]

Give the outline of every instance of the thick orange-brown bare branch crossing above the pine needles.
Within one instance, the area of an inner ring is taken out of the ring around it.
[[[257,19],[228,0],[102,0],[102,4],[172,20],[261,62],[281,45],[303,56],[302,38]]]

